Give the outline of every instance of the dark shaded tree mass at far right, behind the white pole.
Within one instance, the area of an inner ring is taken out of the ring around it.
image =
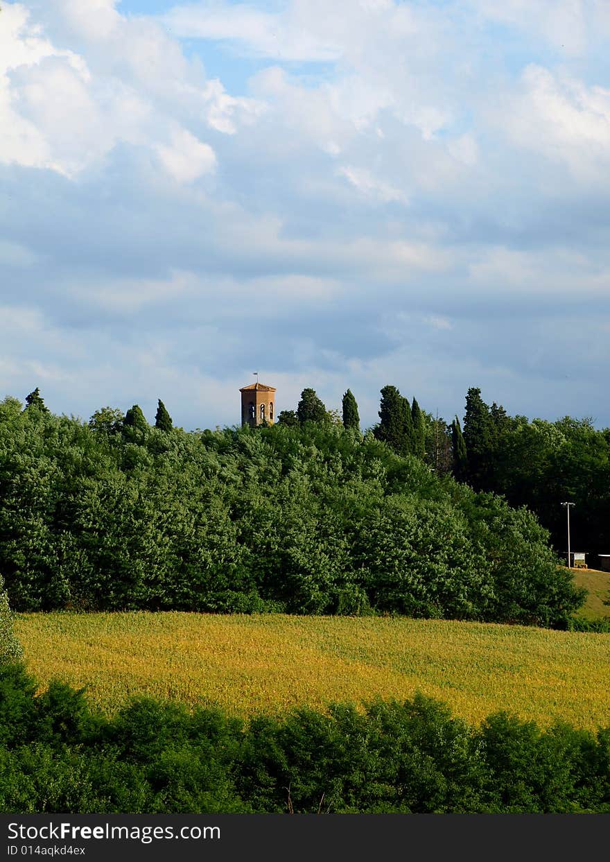
[[[610,429],[570,416],[530,422],[526,416],[507,415],[495,403],[489,407],[480,390],[470,389],[464,428],[455,420],[453,435],[456,478],[532,509],[564,560],[565,502],[575,503],[570,512],[572,551],[590,554],[593,568],[596,554],[610,553]]]

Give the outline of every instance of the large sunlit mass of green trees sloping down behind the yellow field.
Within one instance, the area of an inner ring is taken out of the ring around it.
[[[0,573],[18,610],[366,613],[567,628],[525,509],[339,423],[187,434],[0,404]]]

